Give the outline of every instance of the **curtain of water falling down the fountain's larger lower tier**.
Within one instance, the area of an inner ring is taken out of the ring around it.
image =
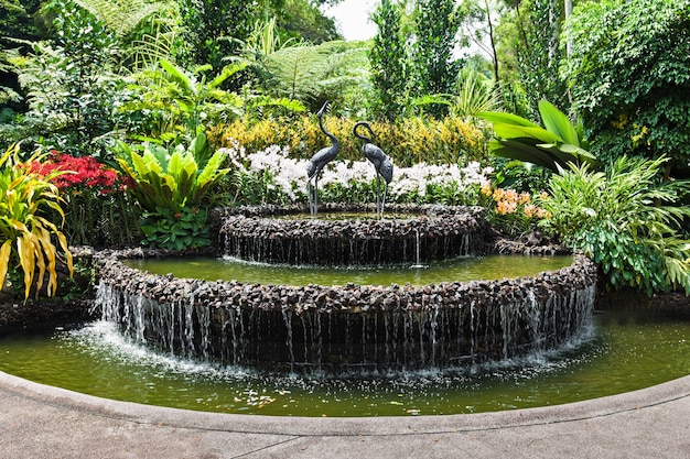
[[[251,285],[234,285],[226,299],[209,302],[211,288],[185,284],[180,293],[168,292],[174,300],[158,302],[141,288],[101,281],[96,303],[101,318],[132,341],[187,359],[285,371],[406,370],[509,359],[575,337],[592,318],[595,283],[568,286],[554,277],[553,286],[545,284],[408,287],[381,291],[364,307],[324,309],[305,306],[311,297],[298,293],[290,306],[289,287],[281,287],[273,306],[271,295],[252,296]],[[214,288],[223,293],[219,284]],[[337,292],[332,295],[338,300]]]

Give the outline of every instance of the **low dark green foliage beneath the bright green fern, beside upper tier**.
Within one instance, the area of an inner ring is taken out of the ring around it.
[[[177,212],[158,207],[144,212],[141,230],[145,245],[166,250],[196,249],[211,244],[208,215],[203,208],[182,207]]]

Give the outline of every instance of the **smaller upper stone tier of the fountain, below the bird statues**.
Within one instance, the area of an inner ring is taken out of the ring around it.
[[[216,209],[212,231],[218,234],[219,252],[242,260],[410,265],[486,253],[497,233],[484,211],[466,206],[391,205],[377,218],[373,206],[338,204],[321,206],[319,218],[311,218],[304,206],[245,206]],[[300,216],[288,217],[295,215]]]

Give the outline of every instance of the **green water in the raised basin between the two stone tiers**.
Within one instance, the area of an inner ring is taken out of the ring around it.
[[[152,274],[172,273],[175,277],[194,277],[206,281],[231,281],[272,285],[412,285],[464,282],[474,280],[514,278],[535,276],[542,271],[568,266],[573,259],[567,256],[487,255],[465,256],[424,266],[288,266],[250,263],[236,259],[171,258],[129,260],[127,263]]]

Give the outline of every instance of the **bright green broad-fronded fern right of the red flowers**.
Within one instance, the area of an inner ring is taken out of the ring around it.
[[[141,207],[149,212],[170,209],[181,212],[184,207],[198,207],[215,183],[228,170],[222,168],[224,157],[211,154],[205,134],[198,134],[185,146],[170,150],[144,143],[141,149],[120,144],[120,167],[134,181],[132,190]],[[137,150],[142,150],[139,153]]]

